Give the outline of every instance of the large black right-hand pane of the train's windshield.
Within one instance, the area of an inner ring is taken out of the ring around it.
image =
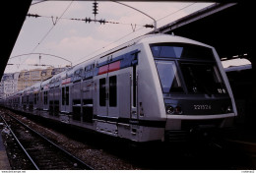
[[[188,92],[226,93],[224,83],[214,64],[180,63]]]

